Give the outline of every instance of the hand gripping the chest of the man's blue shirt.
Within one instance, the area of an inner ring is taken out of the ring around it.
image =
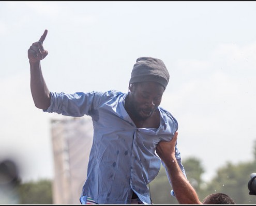
[[[166,164],[175,158],[175,144],[178,138],[178,132],[175,132],[171,141],[160,141],[157,145],[157,155]]]

